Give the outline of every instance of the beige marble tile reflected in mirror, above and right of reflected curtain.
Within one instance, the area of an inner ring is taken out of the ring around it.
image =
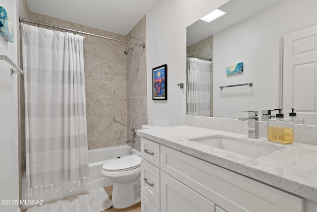
[[[200,57],[205,58],[213,58],[213,35],[211,35],[208,38],[205,38],[204,40],[201,40],[193,45],[190,45],[186,49],[187,54],[196,55]],[[213,65],[211,64],[211,85],[213,81]],[[212,86],[211,86],[211,96],[210,96],[211,102],[212,102]],[[213,108],[212,104],[210,105],[210,116],[213,116]]]

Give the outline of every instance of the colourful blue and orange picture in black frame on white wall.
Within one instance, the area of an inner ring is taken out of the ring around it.
[[[152,69],[152,99],[167,100],[167,65]]]

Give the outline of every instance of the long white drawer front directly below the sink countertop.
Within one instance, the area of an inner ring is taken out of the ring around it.
[[[302,212],[303,199],[175,149],[160,146],[161,170],[228,212]]]

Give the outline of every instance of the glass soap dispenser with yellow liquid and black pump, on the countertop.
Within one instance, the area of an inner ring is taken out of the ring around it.
[[[280,142],[283,144],[293,143],[293,120],[284,118],[281,113],[282,109],[278,110],[276,118],[267,121],[267,139],[268,141]]]

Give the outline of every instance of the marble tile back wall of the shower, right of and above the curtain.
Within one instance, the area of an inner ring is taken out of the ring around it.
[[[102,29],[30,12],[29,19],[101,36],[126,40]],[[124,144],[127,140],[125,43],[85,35],[84,63],[88,148]]]

